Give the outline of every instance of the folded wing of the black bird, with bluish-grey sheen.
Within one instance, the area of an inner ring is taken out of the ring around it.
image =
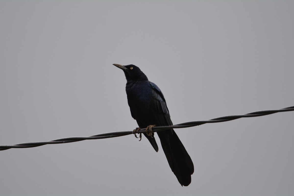
[[[152,89],[151,89],[151,109],[153,112],[154,117],[157,121],[157,126],[163,125],[173,125],[171,122],[171,117],[169,115],[168,108],[166,106],[166,100],[158,88],[158,86],[152,82],[150,82]]]

